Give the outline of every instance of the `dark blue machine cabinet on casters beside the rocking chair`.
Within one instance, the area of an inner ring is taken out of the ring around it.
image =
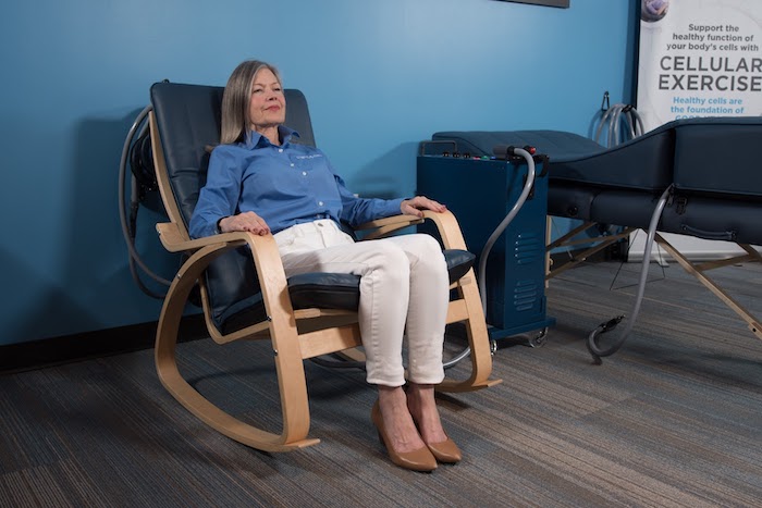
[[[495,154],[471,157],[459,153],[454,141],[423,141],[417,194],[447,206],[478,256],[493,349],[499,339],[517,336],[536,347],[555,324],[546,315],[544,290],[548,158],[530,147],[495,147]]]

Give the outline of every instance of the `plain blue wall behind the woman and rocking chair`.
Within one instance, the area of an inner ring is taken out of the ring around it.
[[[310,103],[351,188],[409,195],[443,129],[590,135],[603,91],[631,99],[637,0],[568,10],[493,0],[13,2],[0,20],[4,289],[0,344],[155,321],[118,212],[122,145],[157,80],[224,85],[275,63]],[[142,210],[138,248],[164,276]]]

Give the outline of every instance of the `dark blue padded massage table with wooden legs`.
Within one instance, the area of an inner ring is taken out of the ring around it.
[[[560,131],[439,132],[432,141],[452,143],[457,157],[492,157],[495,148],[530,146],[548,157],[548,214],[581,221],[548,244],[549,252],[570,248],[570,261],[549,269],[552,278],[597,251],[648,232],[638,295],[618,339],[602,346],[602,335],[623,321],[618,315],[597,326],[587,346],[595,363],[624,343],[642,300],[653,241],[720,297],[762,338],[760,320],[706,275],[712,269],[761,262],[762,119],[677,120],[614,147]],[[599,227],[593,228],[592,226]],[[619,226],[613,228],[612,226]],[[582,232],[601,236],[579,239]],[[612,233],[614,231],[614,233]],[[730,241],[742,253],[698,263],[671,244],[664,233]],[[587,244],[583,249],[575,249]]]

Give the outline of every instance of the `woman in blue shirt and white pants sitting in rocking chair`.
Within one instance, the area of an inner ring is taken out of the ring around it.
[[[394,463],[431,471],[457,462],[434,401],[444,379],[442,344],[448,301],[446,264],[429,235],[355,243],[339,227],[443,205],[413,199],[357,198],[318,149],[294,141],[283,125],[285,98],[278,71],[260,61],[238,65],[222,99],[221,145],[190,221],[193,237],[247,231],[273,234],[286,275],[360,275],[358,310],[367,380],[378,385],[371,419]],[[408,346],[408,385],[402,360]]]

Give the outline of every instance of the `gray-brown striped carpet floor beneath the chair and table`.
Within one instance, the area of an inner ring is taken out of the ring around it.
[[[583,338],[629,312],[637,270],[591,263],[553,280],[545,345],[506,340],[502,384],[440,397],[465,458],[431,474],[388,460],[359,371],[307,362],[321,443],[274,455],[190,417],[159,384],[151,350],[2,375],[0,506],[760,506],[762,342],[708,289],[653,264],[629,339],[591,363]],[[762,315],[762,268],[711,276]],[[179,351],[199,391],[276,424],[266,344]]]

